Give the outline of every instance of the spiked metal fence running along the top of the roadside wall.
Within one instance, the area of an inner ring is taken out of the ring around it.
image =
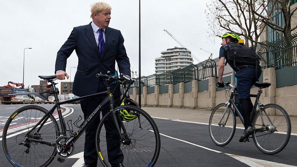
[[[260,42],[255,49],[257,54],[261,57],[260,65],[262,69],[274,67],[281,69],[297,65],[297,33],[292,36],[285,37],[273,42]],[[202,81],[210,77],[218,76],[219,58],[208,58],[198,64],[191,64],[185,68],[178,68],[176,70],[153,74],[149,76],[142,76],[142,86],[153,85],[168,85],[177,84],[180,82],[188,82],[193,79]],[[225,65],[223,76],[232,75],[232,68],[229,64]],[[138,78],[133,86],[138,87]]]

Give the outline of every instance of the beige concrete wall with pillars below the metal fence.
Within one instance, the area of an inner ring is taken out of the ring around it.
[[[262,78],[261,78],[262,80]],[[183,108],[199,108],[199,109],[207,109],[211,110],[219,103],[227,102],[229,99],[229,94],[231,94],[231,90],[227,95],[225,94],[225,90],[216,90],[215,84],[216,79],[214,77],[210,78],[208,82],[208,89],[204,88],[206,85],[204,84],[203,90],[198,89],[198,86],[201,85],[201,82],[197,80],[193,80],[190,88],[187,88],[187,92],[185,93],[185,84],[180,82],[178,84],[178,93],[174,93],[173,84],[168,85],[168,93],[159,92],[159,85],[155,85],[154,93],[147,94],[147,88],[144,87],[142,90],[142,106],[166,106],[166,107],[183,107]],[[268,103],[276,103],[288,112],[289,115],[297,116],[297,103],[295,102],[297,99],[297,85],[286,86],[277,88],[276,86],[276,71],[274,68],[267,68],[263,71],[263,82],[270,82],[271,86],[269,88],[262,89],[262,94],[260,97],[260,102],[262,104]],[[190,84],[189,84],[190,85]],[[203,85],[201,85],[203,86]],[[257,87],[253,87],[251,89],[251,94],[257,94]],[[164,90],[162,90],[164,92]],[[136,88],[133,88],[133,94],[130,95],[132,99],[138,102],[138,95],[136,94]],[[227,99],[226,99],[227,97]],[[252,98],[252,102],[254,103],[255,98]],[[268,111],[269,114],[275,115],[275,111]]]

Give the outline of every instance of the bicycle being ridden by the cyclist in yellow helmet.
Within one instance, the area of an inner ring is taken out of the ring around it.
[[[280,152],[287,145],[291,135],[291,122],[287,112],[281,106],[277,104],[262,105],[260,103],[259,98],[262,89],[268,88],[270,85],[270,83],[255,83],[259,90],[257,95],[250,95],[256,97],[252,113],[250,113],[250,120],[255,145],[265,154],[272,155]],[[244,122],[233,101],[234,95],[237,94],[235,92],[236,86],[229,82],[225,83],[225,86],[232,88],[230,99],[227,103],[218,104],[212,110],[209,119],[209,134],[211,140],[218,146],[225,146],[232,140],[236,129],[235,112],[241,122]]]

